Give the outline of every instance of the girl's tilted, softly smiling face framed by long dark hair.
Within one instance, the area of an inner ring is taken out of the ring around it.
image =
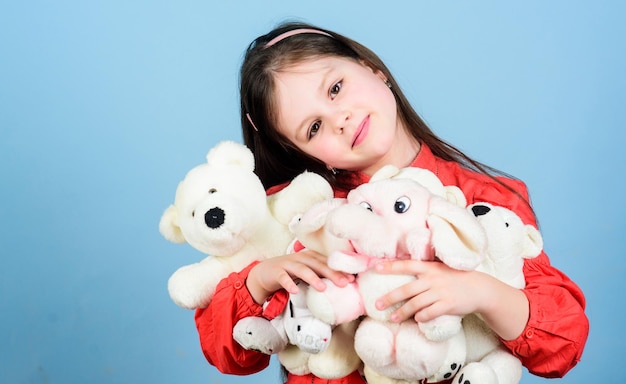
[[[323,57],[282,70],[275,80],[279,131],[328,166],[372,174],[384,164],[407,166],[417,154],[381,72]]]

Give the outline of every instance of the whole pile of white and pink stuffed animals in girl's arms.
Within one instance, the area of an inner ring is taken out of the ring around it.
[[[206,307],[217,283],[252,261],[293,252],[294,239],[328,257],[356,281],[316,291],[299,283],[282,315],[244,318],[233,329],[243,347],[278,353],[291,373],[333,379],[363,367],[369,384],[437,382],[514,384],[521,364],[476,315],[394,323],[374,302],[415,276],[378,274],[385,260],[443,262],[524,286],[523,259],[543,248],[541,235],[512,211],[488,203],[466,207],[457,187],[427,170],[383,167],[346,199],[305,172],[267,196],[252,153],[222,142],[180,182],[159,225],[163,236],[206,254],[168,281],[172,300]],[[355,225],[358,223],[358,225]]]

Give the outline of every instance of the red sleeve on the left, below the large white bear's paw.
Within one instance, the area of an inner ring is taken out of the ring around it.
[[[200,346],[207,361],[220,372],[249,375],[266,368],[270,356],[241,347],[232,337],[233,327],[247,316],[261,316],[263,308],[248,289],[246,278],[253,263],[241,272],[231,273],[216,287],[211,303],[196,310],[195,321]]]

